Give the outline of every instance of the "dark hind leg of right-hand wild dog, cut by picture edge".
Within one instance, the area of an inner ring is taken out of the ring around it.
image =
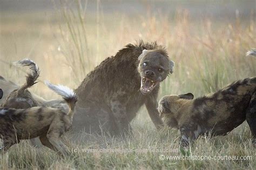
[[[254,92],[246,111],[246,121],[250,126],[253,143],[256,144],[256,92]]]

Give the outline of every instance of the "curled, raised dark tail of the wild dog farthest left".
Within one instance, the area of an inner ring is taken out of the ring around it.
[[[30,59],[23,59],[19,60],[18,62],[14,62],[14,64],[21,64],[22,66],[30,66],[30,70],[32,70],[32,73],[28,73],[26,76],[26,83],[21,86],[18,90],[18,93],[22,93],[25,89],[28,89],[32,85],[36,84],[36,80],[39,77],[39,68],[35,62],[33,62]]]

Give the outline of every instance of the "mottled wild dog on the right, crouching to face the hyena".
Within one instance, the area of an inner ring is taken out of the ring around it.
[[[167,126],[179,129],[182,146],[201,134],[226,135],[245,120],[255,141],[256,77],[235,81],[208,96],[193,97],[187,93],[165,96],[159,101],[160,117]]]

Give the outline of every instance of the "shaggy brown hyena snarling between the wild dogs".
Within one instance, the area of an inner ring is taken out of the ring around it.
[[[174,63],[156,43],[128,44],[105,59],[75,90],[78,96],[76,130],[123,134],[142,105],[156,127],[163,125],[157,111],[159,83],[173,72]]]

